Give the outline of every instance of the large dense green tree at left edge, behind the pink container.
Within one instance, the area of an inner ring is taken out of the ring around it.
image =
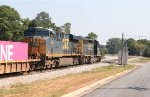
[[[18,41],[23,36],[19,13],[10,6],[0,6],[0,39]]]

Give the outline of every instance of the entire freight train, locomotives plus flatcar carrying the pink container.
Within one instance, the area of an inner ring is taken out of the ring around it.
[[[40,27],[25,30],[21,42],[1,41],[0,51],[0,74],[101,61],[97,40]]]

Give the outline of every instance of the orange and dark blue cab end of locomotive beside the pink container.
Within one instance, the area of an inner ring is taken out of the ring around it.
[[[29,28],[24,32],[23,42],[29,44],[29,58],[37,59],[42,55],[46,55],[46,41],[54,38],[54,33],[50,29]]]

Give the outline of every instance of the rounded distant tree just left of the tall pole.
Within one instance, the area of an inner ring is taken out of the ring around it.
[[[121,50],[122,42],[120,38],[111,38],[108,40],[106,48],[108,49],[108,53],[117,54],[119,50]]]

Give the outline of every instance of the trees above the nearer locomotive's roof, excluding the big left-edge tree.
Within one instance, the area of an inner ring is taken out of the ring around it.
[[[40,12],[37,14],[36,18],[32,21],[25,21],[25,25],[28,27],[43,27],[43,28],[51,28],[56,33],[65,32],[70,33],[71,23],[65,23],[63,26],[58,27],[55,23],[52,22],[52,18],[49,16],[47,12]]]

